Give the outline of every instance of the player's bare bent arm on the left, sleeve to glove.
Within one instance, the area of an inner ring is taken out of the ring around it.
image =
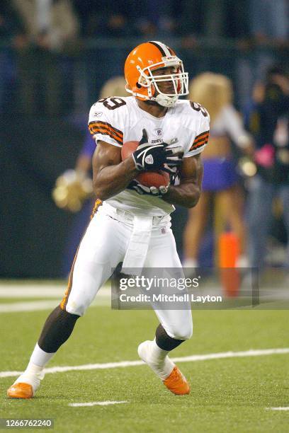
[[[132,157],[121,161],[120,147],[98,141],[92,158],[94,193],[107,200],[128,186],[138,171]]]

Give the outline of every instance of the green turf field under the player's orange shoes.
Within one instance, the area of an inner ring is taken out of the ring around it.
[[[49,312],[0,314],[0,371],[26,366]],[[289,347],[288,316],[282,310],[196,311],[193,338],[174,357]],[[156,325],[152,311],[93,306],[49,366],[137,360],[137,345],[152,339]],[[169,393],[145,364],[47,374],[32,400],[6,398],[13,377],[0,377],[0,417],[51,417],[55,432],[288,432],[289,411],[267,408],[289,406],[289,354],[179,366],[191,383],[189,396]],[[128,403],[69,406],[107,400]]]

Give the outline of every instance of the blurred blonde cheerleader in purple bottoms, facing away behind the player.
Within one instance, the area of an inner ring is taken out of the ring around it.
[[[246,265],[245,229],[242,200],[239,200],[237,173],[232,158],[231,140],[243,151],[251,149],[251,138],[245,131],[239,113],[232,105],[232,83],[226,76],[205,72],[191,81],[190,99],[203,105],[210,114],[210,139],[203,151],[203,193],[196,207],[189,209],[183,234],[184,267],[198,266],[198,253],[206,224],[210,201],[215,198],[228,224],[239,238],[237,266]],[[225,230],[225,226],[222,231]]]

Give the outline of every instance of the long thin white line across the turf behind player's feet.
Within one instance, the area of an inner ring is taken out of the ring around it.
[[[272,354],[288,354],[289,347],[280,349],[259,349],[259,350],[246,350],[244,352],[219,352],[191,355],[190,357],[171,358],[174,362],[196,362],[207,361],[209,359],[223,359],[223,358],[239,358],[239,357],[261,357],[264,355]],[[117,369],[128,366],[143,365],[144,362],[138,361],[121,361],[121,362],[106,362],[103,364],[84,364],[74,366],[55,366],[50,369],[44,369],[45,374],[50,373],[64,373],[65,371],[83,371],[83,370],[102,370],[102,369]],[[19,376],[23,371],[0,371],[1,377]]]

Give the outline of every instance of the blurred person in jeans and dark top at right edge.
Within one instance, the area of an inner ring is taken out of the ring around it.
[[[252,267],[263,267],[274,197],[283,204],[289,239],[289,78],[281,67],[268,69],[266,81],[255,92],[249,115],[256,138],[257,174],[249,185],[249,258]],[[288,255],[285,265],[289,267]]]

